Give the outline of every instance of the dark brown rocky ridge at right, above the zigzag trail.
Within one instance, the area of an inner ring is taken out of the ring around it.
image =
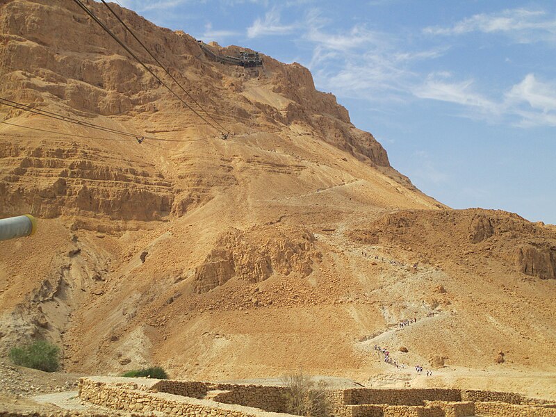
[[[423,259],[448,259],[461,265],[489,256],[500,266],[541,279],[555,279],[556,234],[514,213],[482,209],[399,211],[368,228],[351,232],[363,243],[395,243],[420,248]],[[445,289],[442,288],[445,292]]]

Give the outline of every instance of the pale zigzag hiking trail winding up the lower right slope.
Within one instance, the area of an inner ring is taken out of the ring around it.
[[[411,254],[393,254],[386,247],[354,242],[346,236],[347,230],[346,224],[340,223],[330,230],[331,233],[316,234],[316,239],[331,248],[329,253],[336,265],[343,265],[359,280],[364,295],[353,295],[354,299],[359,297],[374,304],[386,324],[386,327],[373,329],[368,318],[361,316],[357,308],[352,307],[350,314],[353,320],[358,323],[363,334],[367,334],[354,338],[354,351],[359,352],[363,360],[376,366],[377,373],[369,379],[373,386],[407,386],[423,375],[426,377],[430,363],[430,357],[416,353],[418,349],[412,341],[420,338],[420,334],[431,334],[443,326],[448,327],[455,316],[454,311],[444,309],[442,305],[425,302],[413,286],[422,279],[441,286],[446,279],[445,272],[435,265],[417,265],[408,260]],[[400,327],[400,322],[410,318],[416,321]],[[375,350],[375,345],[389,350],[390,357],[399,367],[384,362],[384,354]],[[406,347],[408,352],[401,352],[400,347]],[[416,364],[423,366],[423,373],[416,373]],[[442,375],[444,372],[435,368],[433,373]]]

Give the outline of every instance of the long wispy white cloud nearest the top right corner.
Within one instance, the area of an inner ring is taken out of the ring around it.
[[[503,33],[518,42],[556,41],[556,17],[541,10],[523,8],[500,13],[482,13],[457,22],[453,26],[429,26],[424,33],[432,35],[462,35],[464,33]]]

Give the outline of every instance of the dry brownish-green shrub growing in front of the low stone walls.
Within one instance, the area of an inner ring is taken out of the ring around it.
[[[284,375],[282,383],[287,389],[284,400],[289,414],[307,417],[330,416],[331,407],[324,381],[316,384],[312,377],[300,370]]]

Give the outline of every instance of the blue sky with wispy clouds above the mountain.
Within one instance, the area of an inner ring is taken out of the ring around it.
[[[556,224],[556,1],[118,1],[309,67],[439,201]]]

